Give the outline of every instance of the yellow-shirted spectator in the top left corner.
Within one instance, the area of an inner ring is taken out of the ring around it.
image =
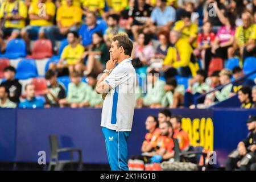
[[[19,36],[20,29],[25,26],[27,18],[27,6],[23,1],[7,0],[3,1],[0,6],[0,50],[4,51],[8,40],[15,39]]]

